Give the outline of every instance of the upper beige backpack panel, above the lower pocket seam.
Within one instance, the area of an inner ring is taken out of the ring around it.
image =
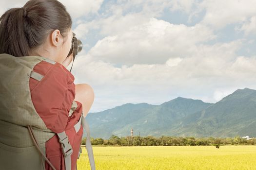
[[[14,57],[0,54],[0,119],[31,125],[51,132],[39,117],[31,100],[30,73],[44,57]]]

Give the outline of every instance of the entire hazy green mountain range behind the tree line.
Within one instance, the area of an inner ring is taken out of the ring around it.
[[[256,136],[256,90],[244,88],[217,103],[178,97],[160,105],[127,103],[86,117],[92,137]]]

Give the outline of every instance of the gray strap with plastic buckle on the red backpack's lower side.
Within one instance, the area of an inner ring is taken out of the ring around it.
[[[68,136],[65,131],[58,133],[59,143],[61,144],[62,153],[65,159],[65,170],[71,170],[71,154],[73,153],[72,146],[68,141]]]

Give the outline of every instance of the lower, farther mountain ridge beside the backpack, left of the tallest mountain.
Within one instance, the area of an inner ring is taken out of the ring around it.
[[[91,136],[108,138],[112,134],[129,136],[133,128],[141,136],[160,136],[178,119],[207,108],[212,103],[178,97],[160,105],[127,103],[86,117]]]

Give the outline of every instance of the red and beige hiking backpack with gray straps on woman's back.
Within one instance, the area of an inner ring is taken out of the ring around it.
[[[0,169],[77,170],[85,129],[95,170],[89,126],[82,104],[74,101],[71,72],[39,56],[0,54],[0,67]]]

